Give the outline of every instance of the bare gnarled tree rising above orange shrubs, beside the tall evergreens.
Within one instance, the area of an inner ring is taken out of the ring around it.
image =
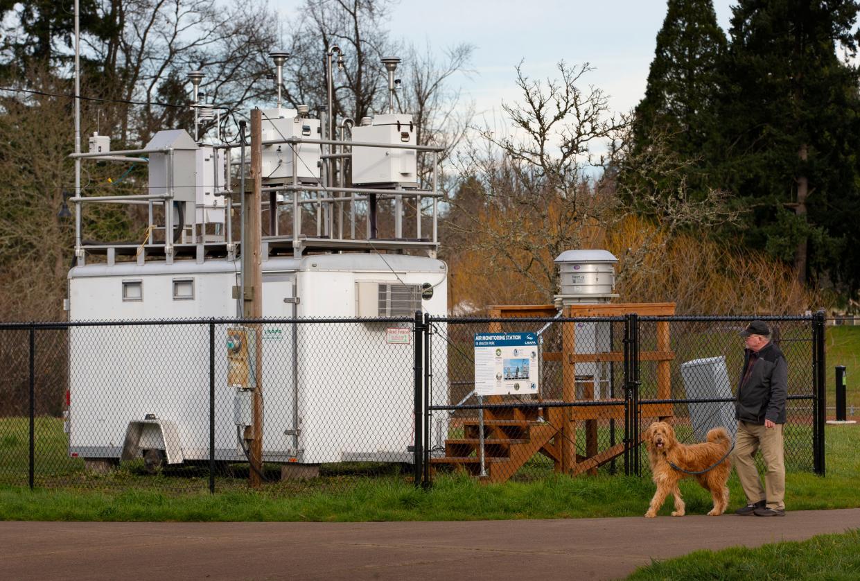
[[[578,86],[588,65],[561,62],[557,69],[559,79],[540,81],[517,66],[522,101],[502,105],[513,133],[477,128],[481,139],[461,170],[481,182],[485,207],[456,228],[490,267],[513,270],[544,295],[556,289],[553,259],[594,244],[621,215],[594,169],[605,162],[599,146],[625,121],[611,115],[601,90]]]

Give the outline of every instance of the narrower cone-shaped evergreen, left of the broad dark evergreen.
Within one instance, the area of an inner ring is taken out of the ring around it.
[[[645,97],[636,107],[634,154],[659,139],[679,159],[690,162],[679,176],[697,197],[708,189],[707,168],[714,162],[715,98],[725,51],[726,37],[716,23],[711,0],[669,0]],[[654,183],[678,189],[679,184],[665,181],[654,176]]]

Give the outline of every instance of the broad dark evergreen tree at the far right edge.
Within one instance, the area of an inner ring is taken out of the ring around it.
[[[747,214],[746,242],[857,288],[857,68],[837,45],[857,47],[853,0],[739,0],[725,61],[722,184]],[[854,243],[849,244],[850,237]],[[853,261],[853,262],[852,262]]]

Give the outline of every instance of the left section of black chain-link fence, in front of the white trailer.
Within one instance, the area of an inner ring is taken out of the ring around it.
[[[0,326],[0,484],[245,487],[255,393],[265,489],[411,481],[414,333],[410,318]]]

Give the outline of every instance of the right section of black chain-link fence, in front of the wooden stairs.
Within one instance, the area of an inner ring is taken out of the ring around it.
[[[789,363],[786,466],[823,473],[823,319],[765,320]],[[702,442],[717,426],[734,436],[744,356],[739,332],[748,321],[429,318],[427,477],[465,472],[503,482],[552,473],[648,473],[642,434],[657,420],[673,423],[680,442]],[[518,391],[507,377],[511,355],[499,349],[499,389],[482,395],[488,378],[476,377],[476,368],[486,366],[476,367],[476,337],[516,332],[537,336],[530,355],[540,363],[539,392]],[[433,379],[440,372],[447,383]]]

